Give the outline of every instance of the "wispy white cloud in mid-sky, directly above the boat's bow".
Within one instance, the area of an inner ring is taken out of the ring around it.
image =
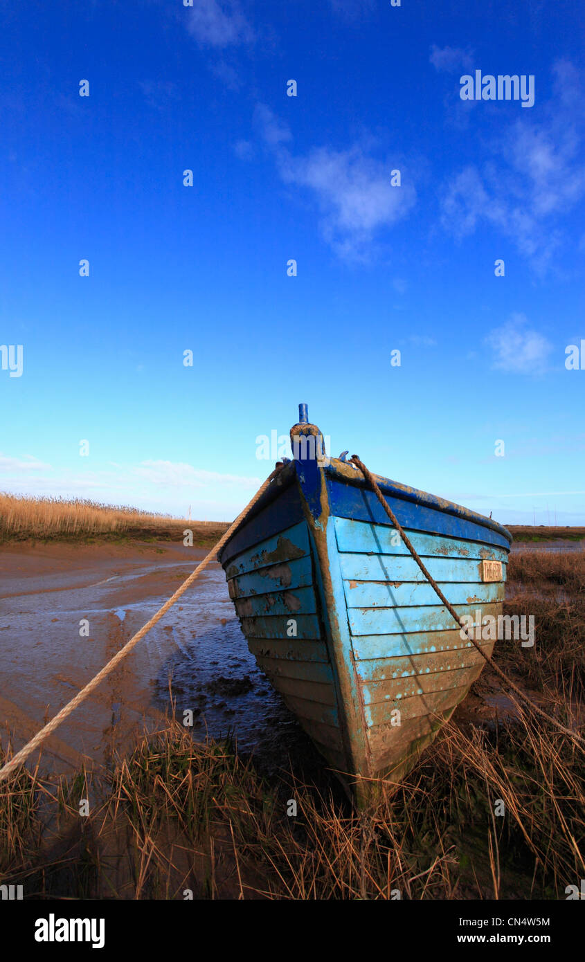
[[[345,259],[368,261],[382,229],[392,227],[413,207],[414,186],[402,180],[400,187],[393,187],[394,163],[374,157],[371,143],[356,143],[346,150],[317,147],[295,155],[285,146],[292,139],[289,128],[269,108],[258,105],[255,120],[281,179],[306,188],[317,202],[325,241]]]

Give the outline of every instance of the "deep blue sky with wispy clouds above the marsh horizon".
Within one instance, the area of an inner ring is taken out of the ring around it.
[[[232,519],[305,401],[336,456],[585,523],[580,6],[0,2],[0,490]]]

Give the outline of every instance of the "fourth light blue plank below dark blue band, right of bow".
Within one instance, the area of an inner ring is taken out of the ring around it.
[[[482,617],[501,613],[501,603],[460,604],[457,614],[474,616],[481,611]],[[445,605],[424,605],[417,608],[349,608],[349,629],[356,635],[393,635],[411,631],[445,631],[452,627],[453,616]],[[460,629],[461,630],[461,629]]]

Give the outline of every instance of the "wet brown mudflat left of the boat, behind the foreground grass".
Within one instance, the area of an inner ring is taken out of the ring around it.
[[[10,543],[0,548],[0,737],[21,747],[172,595],[207,548],[182,543]],[[250,747],[286,713],[248,652],[214,562],[45,742],[41,768],[108,764],[165,720],[195,735],[237,724]],[[227,698],[227,700],[226,700]],[[229,703],[228,703],[229,701]],[[287,721],[288,717],[287,717]],[[34,759],[33,759],[34,760]]]

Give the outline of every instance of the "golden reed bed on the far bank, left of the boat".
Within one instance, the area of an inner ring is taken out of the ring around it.
[[[178,538],[186,527],[193,534],[204,533],[213,539],[226,526],[218,521],[186,521],[126,505],[101,504],[89,498],[0,493],[0,541],[4,542],[108,536],[168,540]]]

